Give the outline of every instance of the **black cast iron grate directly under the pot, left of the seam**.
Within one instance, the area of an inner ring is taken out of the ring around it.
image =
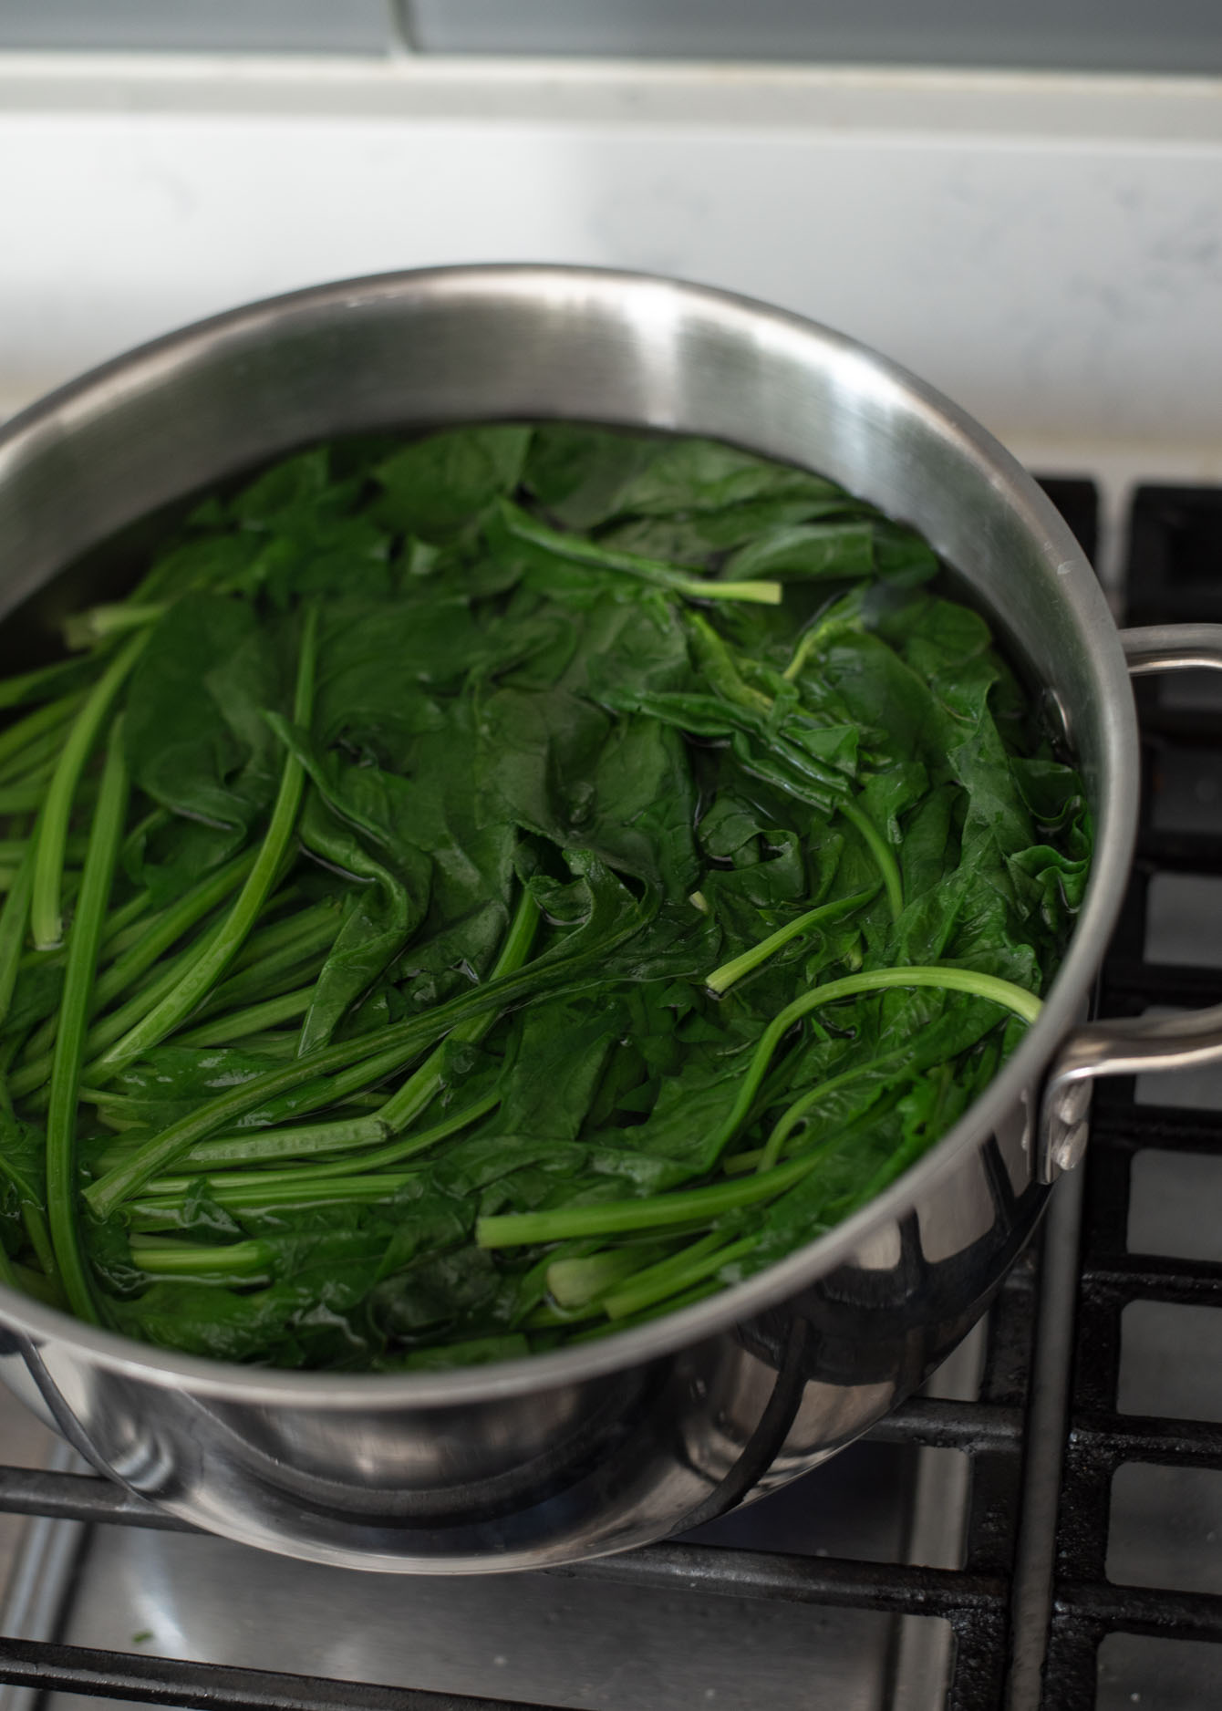
[[[580,1569],[582,1576],[703,1596],[784,1600],[941,1617],[955,1636],[952,1711],[1001,1704],[1013,1540],[1017,1531],[1025,1374],[1030,1360],[1035,1258],[1025,1256],[996,1302],[979,1400],[914,1400],[876,1437],[957,1449],[972,1461],[972,1497],[962,1569],[803,1557],[700,1543],[662,1543]],[[108,1480],[79,1473],[0,1468],[0,1509],[86,1523],[188,1531]],[[524,1702],[411,1692],[402,1687],[279,1672],[214,1667],[98,1651],[58,1643],[0,1639],[0,1680],[175,1706],[282,1706],[310,1711],[525,1711]]]

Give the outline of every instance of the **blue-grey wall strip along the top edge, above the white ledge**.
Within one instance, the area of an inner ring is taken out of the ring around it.
[[[0,0],[0,48],[1222,72],[1222,0]]]

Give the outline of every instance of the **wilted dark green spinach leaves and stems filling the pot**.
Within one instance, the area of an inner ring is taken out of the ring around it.
[[[0,684],[0,1273],[442,1367],[847,1217],[1039,1009],[1077,773],[929,549],[693,440],[474,428],[212,498]]]

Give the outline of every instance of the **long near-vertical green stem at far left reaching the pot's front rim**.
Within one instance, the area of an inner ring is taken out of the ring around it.
[[[123,763],[123,719],[120,715],[111,725],[106,743],[106,765],[89,832],[80,897],[68,932],[60,1032],[55,1040],[51,1100],[46,1112],[46,1211],[55,1263],[63,1280],[68,1305],[77,1317],[87,1319],[91,1324],[98,1324],[98,1309],[77,1223],[77,1086],[86,1045],[89,991],[98,967],[106,898],[115,876],[125,813],[127,767]]]

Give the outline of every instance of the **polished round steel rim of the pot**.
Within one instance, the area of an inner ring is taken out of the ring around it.
[[[755,298],[671,279],[618,269],[568,267],[561,263],[481,263],[409,269],[361,275],[346,281],[306,286],[298,291],[262,298],[149,340],[113,358],[10,417],[0,428],[0,481],[3,464],[21,462],[24,443],[44,433],[58,435],[58,421],[70,421],[79,411],[87,414],[104,406],[110,390],[125,383],[156,383],[178,366],[192,363],[205,349],[248,344],[258,330],[286,318],[310,320],[335,310],[359,310],[378,301],[412,294],[539,294],[541,287],[568,286],[590,294],[633,294],[666,291],[673,303],[741,327],[753,337],[770,337],[789,344],[806,344],[835,352],[839,359],[861,363],[873,382],[922,414],[936,419],[960,455],[970,460],[982,479],[1001,491],[1027,534],[1039,541],[1041,554],[1053,565],[1058,589],[1070,618],[1083,640],[1092,674],[1104,695],[1100,780],[1109,785],[1102,796],[1102,813],[1095,826],[1095,850],[1087,895],[1070,939],[1066,956],[1044,999],[1044,1008],[1025,1039],[994,1076],[986,1092],[958,1122],[904,1175],[868,1206],[832,1230],[799,1247],[756,1276],[731,1288],[666,1314],[661,1319],[613,1331],[594,1343],[570,1345],[549,1353],[460,1367],[450,1372],[404,1374],[334,1374],[248,1367],[236,1362],[183,1355],[139,1343],[133,1338],[86,1324],[70,1314],[0,1285],[0,1323],[31,1338],[36,1345],[65,1343],[86,1353],[91,1362],[116,1372],[139,1376],[144,1382],[180,1388],[195,1394],[274,1406],[310,1406],[344,1410],[430,1408],[457,1403],[495,1401],[561,1384],[594,1379],[608,1372],[647,1364],[683,1347],[733,1329],[734,1324],[777,1305],[820,1276],[833,1271],[881,1225],[912,1211],[916,1203],[936,1189],[938,1177],[950,1172],[960,1157],[979,1146],[981,1138],[1027,1105],[1027,1141],[1034,1146],[1039,1126],[1037,1093],[1058,1042],[1080,1018],[1090,982],[1102,960],[1128,883],[1136,840],[1138,816],[1138,734],[1133,691],[1119,633],[1107,601],[1070,527],[1051,500],[1010,452],[974,417],[934,387],[919,380],[902,364],[881,356],[845,334],[806,317],[762,303]],[[644,424],[642,424],[644,426]],[[286,448],[288,450],[288,448]],[[746,447],[750,450],[750,447]]]

